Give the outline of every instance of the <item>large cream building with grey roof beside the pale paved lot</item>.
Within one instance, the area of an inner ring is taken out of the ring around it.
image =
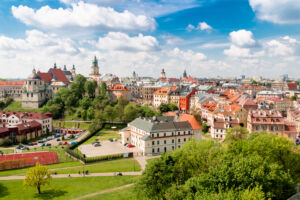
[[[143,155],[157,155],[182,147],[194,131],[189,122],[164,116],[137,118],[121,134],[123,144],[135,145]]]

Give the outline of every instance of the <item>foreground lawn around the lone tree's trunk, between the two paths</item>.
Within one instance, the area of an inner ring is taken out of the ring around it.
[[[101,190],[134,183],[136,176],[107,176],[52,179],[50,185],[37,189],[23,186],[23,180],[1,181],[0,199],[74,199]]]

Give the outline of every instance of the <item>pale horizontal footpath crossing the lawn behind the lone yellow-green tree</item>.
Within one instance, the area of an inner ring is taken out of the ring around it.
[[[123,176],[138,176],[141,175],[142,172],[122,172]],[[88,175],[83,176],[82,174],[57,174],[51,175],[52,178],[75,178],[75,177],[95,177],[95,176],[116,176],[115,172],[108,172],[108,173],[90,173]],[[0,181],[6,180],[22,180],[25,176],[4,176],[0,177]]]

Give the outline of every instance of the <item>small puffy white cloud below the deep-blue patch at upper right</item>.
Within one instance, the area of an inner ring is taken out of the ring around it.
[[[251,31],[239,30],[229,34],[231,42],[239,47],[251,47],[256,44]]]

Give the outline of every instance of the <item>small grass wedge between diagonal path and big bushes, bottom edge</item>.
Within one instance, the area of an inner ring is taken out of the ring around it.
[[[100,194],[94,197],[87,198],[86,200],[136,200],[136,195],[134,193],[134,186],[130,188],[125,188],[122,190]]]

